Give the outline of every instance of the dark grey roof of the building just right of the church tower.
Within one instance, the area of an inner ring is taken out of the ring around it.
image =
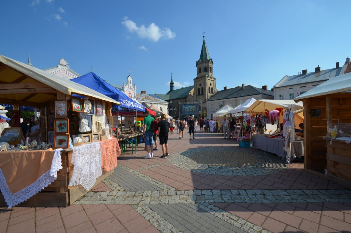
[[[248,86],[245,86],[244,89],[241,86],[239,86],[239,87],[229,88],[226,90],[219,90],[218,92],[216,92],[216,94],[212,95],[207,101],[231,99],[231,98],[238,98],[238,97],[259,95],[259,94],[273,96],[273,92],[271,90],[264,90],[262,88],[248,85]]]

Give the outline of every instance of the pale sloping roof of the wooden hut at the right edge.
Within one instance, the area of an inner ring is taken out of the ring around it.
[[[351,91],[351,73],[339,75],[319,84],[317,87],[297,96],[294,100]]]

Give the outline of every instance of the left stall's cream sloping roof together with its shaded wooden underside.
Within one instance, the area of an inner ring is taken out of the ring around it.
[[[32,103],[44,103],[57,95],[56,91],[59,91],[66,95],[78,94],[84,96],[94,97],[100,100],[108,101],[119,105],[118,101],[107,97],[95,90],[92,90],[81,84],[71,82],[65,78],[59,77],[48,73],[47,71],[32,67],[25,63],[16,61],[14,59],[0,55],[0,81],[8,84],[22,84],[25,85],[38,85],[42,83],[46,88],[37,88],[34,92],[20,93],[20,87],[17,87],[18,94],[16,99],[18,101],[27,101]],[[20,81],[19,81],[20,80]],[[38,82],[35,82],[38,81]],[[5,84],[7,85],[7,84]],[[27,89],[27,88],[22,88]],[[35,88],[32,88],[35,89]],[[53,92],[51,91],[53,90]],[[5,93],[5,94],[3,94]],[[35,94],[35,95],[33,95]],[[54,95],[53,95],[54,94]],[[2,92],[1,97],[8,100],[14,99],[14,94]]]

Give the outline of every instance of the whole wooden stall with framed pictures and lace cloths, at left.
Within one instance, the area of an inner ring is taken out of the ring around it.
[[[1,206],[65,207],[113,172],[120,149],[108,122],[118,101],[1,55],[0,82],[0,102],[13,106],[0,137]],[[34,108],[29,144],[21,106]]]

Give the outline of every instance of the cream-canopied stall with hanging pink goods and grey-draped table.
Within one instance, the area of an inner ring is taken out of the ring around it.
[[[246,108],[245,118],[250,122],[247,125],[250,125],[253,134],[252,147],[286,158],[288,163],[291,158],[303,157],[303,142],[294,139],[293,130],[288,135],[287,129],[286,132],[280,129],[281,125],[298,128],[299,122],[295,122],[294,113],[300,113],[299,109],[303,109],[302,102],[293,100],[257,100]],[[297,119],[301,119],[300,115]],[[287,137],[291,141],[289,145],[286,144]]]

